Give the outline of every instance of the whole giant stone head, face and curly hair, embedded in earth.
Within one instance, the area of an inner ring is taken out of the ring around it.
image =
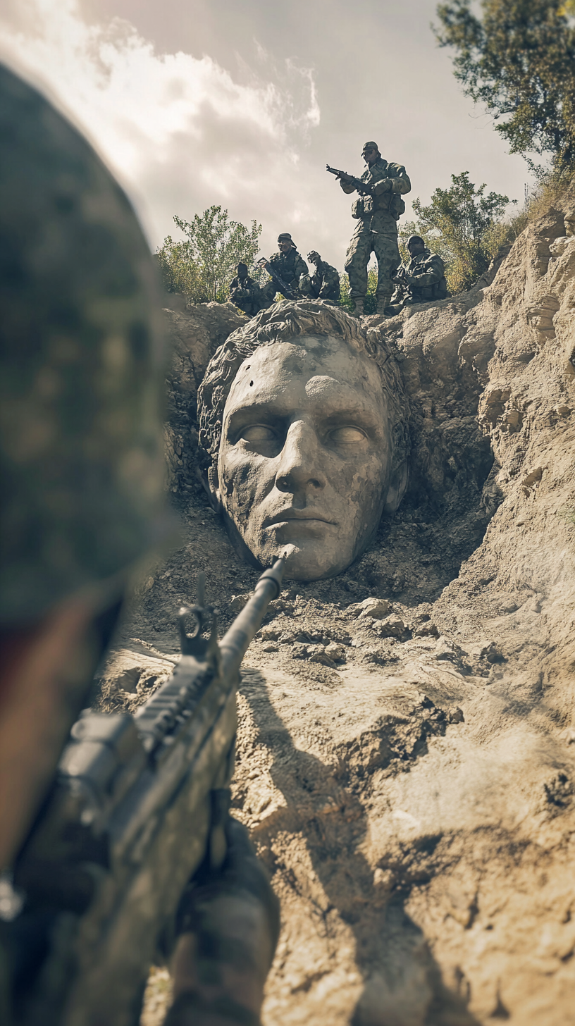
[[[344,570],[408,480],[398,367],[357,320],[281,303],[234,331],[198,392],[206,486],[237,552],[288,577]]]

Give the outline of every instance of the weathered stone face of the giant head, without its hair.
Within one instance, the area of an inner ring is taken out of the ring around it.
[[[286,578],[299,581],[332,577],[363,551],[391,477],[377,364],[319,328],[245,358],[223,412],[218,462],[218,497],[238,552],[262,567],[282,554]]]

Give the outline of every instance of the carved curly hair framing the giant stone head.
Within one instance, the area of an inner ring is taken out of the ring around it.
[[[273,342],[297,345],[297,337],[303,334],[344,339],[351,349],[366,353],[377,364],[387,401],[392,466],[398,467],[408,457],[410,444],[407,399],[397,362],[377,328],[365,331],[354,317],[320,300],[274,303],[233,331],[216,351],[198,389],[199,442],[210,462],[218,463],[224,407],[240,365],[259,346]]]

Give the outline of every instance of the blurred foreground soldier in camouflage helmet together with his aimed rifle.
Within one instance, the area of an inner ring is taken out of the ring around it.
[[[281,567],[221,646],[192,608],[193,649],[139,719],[88,713],[67,744],[166,534],[159,298],[117,183],[3,67],[0,141],[0,1022],[133,1026],[165,926],[166,1024],[258,1026],[278,909],[224,799],[234,676]]]

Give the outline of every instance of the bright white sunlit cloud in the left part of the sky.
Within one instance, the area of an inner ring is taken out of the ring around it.
[[[127,22],[88,24],[77,0],[20,0],[0,50],[43,85],[118,172],[153,246],[212,203],[269,228],[306,216],[301,150],[320,119],[313,73],[292,62],[234,81],[209,56],[157,53]],[[309,211],[308,211],[309,212]]]

